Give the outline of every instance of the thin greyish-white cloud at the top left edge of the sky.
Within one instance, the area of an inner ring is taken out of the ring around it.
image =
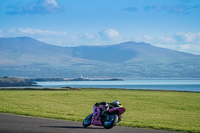
[[[18,3],[16,5],[7,6],[6,14],[24,15],[24,14],[49,14],[62,12],[61,7],[56,0],[37,0],[26,5]]]

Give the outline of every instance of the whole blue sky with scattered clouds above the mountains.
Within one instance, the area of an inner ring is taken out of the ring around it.
[[[0,0],[0,37],[58,46],[127,41],[200,55],[200,0]]]

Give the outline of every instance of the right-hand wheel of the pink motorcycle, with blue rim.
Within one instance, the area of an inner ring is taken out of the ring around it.
[[[110,129],[116,125],[118,116],[116,114],[109,115],[109,121],[104,122],[104,128]]]

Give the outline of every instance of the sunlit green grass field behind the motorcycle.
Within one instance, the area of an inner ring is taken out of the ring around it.
[[[82,121],[95,102],[119,100],[121,126],[200,133],[200,93],[82,89],[0,90],[0,112]]]

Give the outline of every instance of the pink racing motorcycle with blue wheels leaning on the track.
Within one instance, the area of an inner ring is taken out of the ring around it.
[[[95,126],[103,126],[105,129],[110,129],[121,121],[121,115],[126,111],[124,107],[114,107],[102,113],[105,108],[106,105],[96,103],[93,106],[93,113],[83,120],[83,126],[88,127],[92,124]]]

